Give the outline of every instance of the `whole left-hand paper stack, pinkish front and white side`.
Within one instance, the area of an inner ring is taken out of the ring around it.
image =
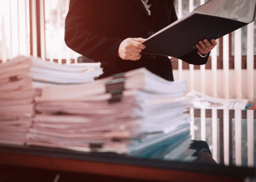
[[[26,56],[1,64],[0,71],[0,142],[21,145],[26,142],[34,98],[40,92],[35,88],[92,82],[103,73],[100,63],[59,65]]]

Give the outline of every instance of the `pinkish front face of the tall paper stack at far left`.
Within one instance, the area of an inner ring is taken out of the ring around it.
[[[34,113],[31,59],[17,57],[0,64],[0,142],[22,145]]]

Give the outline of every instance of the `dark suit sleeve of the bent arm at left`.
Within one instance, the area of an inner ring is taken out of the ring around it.
[[[108,38],[96,32],[101,3],[97,0],[70,0],[65,20],[66,45],[77,53],[115,68],[119,38]]]

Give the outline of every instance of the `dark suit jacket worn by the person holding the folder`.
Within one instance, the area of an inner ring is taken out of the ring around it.
[[[77,53],[102,63],[104,74],[127,72],[140,67],[173,81],[172,63],[166,56],[143,55],[137,61],[117,56],[126,38],[148,38],[177,20],[173,1],[153,0],[148,15],[141,0],[70,0],[65,22],[65,42]],[[189,30],[188,30],[189,31]],[[202,65],[207,62],[197,49],[179,59]]]

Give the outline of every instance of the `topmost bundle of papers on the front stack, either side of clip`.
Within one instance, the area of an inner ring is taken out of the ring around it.
[[[182,97],[186,91],[186,80],[170,82],[149,72],[146,68],[139,68],[125,73],[125,90],[137,89],[145,93],[163,94],[171,97]],[[96,97],[100,100],[102,97],[108,97],[105,83],[112,80],[111,77],[100,79],[94,82],[76,85],[58,85],[45,86],[40,97],[36,97],[36,102],[53,102],[67,100],[88,100],[90,97]],[[58,93],[58,94],[57,94]],[[143,98],[142,98],[143,99]]]

